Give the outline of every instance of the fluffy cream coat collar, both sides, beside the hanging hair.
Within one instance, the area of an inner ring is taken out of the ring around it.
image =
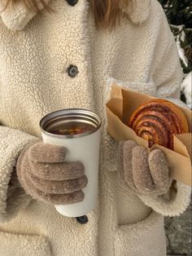
[[[0,11],[2,11],[4,7],[3,2],[5,1],[6,0],[0,1]],[[122,11],[124,11],[124,13],[129,16],[129,20],[131,20],[133,24],[142,24],[150,15],[151,0],[131,1],[132,7],[124,8]],[[50,0],[46,0],[46,3],[49,2]],[[43,9],[41,3],[38,5],[40,9]],[[0,13],[2,22],[7,26],[8,29],[11,29],[12,31],[24,29],[28,22],[32,20],[35,15],[36,13],[33,11],[28,11],[28,9],[24,7],[23,3],[17,3],[14,7],[10,5],[5,11]]]

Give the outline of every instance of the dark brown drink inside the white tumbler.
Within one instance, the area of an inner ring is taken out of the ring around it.
[[[59,124],[59,126],[49,130],[49,132],[54,135],[80,135],[94,128],[94,126],[85,122],[69,121]]]

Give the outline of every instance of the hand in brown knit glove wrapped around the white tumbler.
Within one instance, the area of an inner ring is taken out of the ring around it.
[[[66,162],[66,148],[48,143],[34,143],[18,158],[16,170],[25,192],[33,198],[54,205],[83,201],[82,188],[88,183],[79,161]]]

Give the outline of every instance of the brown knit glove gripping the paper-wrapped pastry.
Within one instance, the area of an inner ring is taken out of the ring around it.
[[[140,194],[162,195],[171,184],[164,152],[155,149],[148,153],[133,140],[120,142],[118,174],[125,186]]]

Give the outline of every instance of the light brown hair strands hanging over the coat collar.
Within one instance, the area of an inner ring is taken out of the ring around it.
[[[39,10],[37,2],[49,12],[54,10],[46,4],[45,0],[7,0],[6,7],[2,10],[4,11],[8,5],[15,5],[17,2],[23,2],[24,5],[31,11],[36,13]],[[131,0],[89,0],[91,7],[94,12],[95,23],[98,27],[115,27],[120,21],[121,10],[127,8]]]

